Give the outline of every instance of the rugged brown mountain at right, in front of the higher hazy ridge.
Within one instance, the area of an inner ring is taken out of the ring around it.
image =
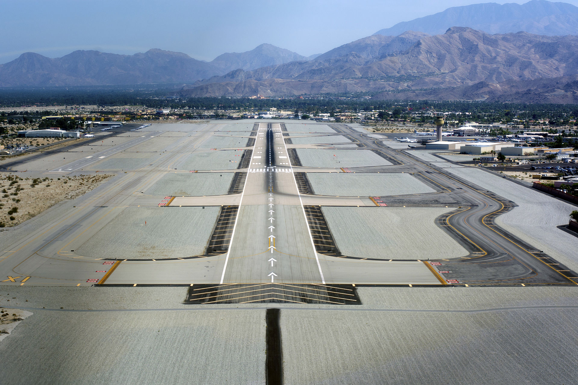
[[[409,48],[403,51],[391,48],[393,42],[408,36],[417,39],[407,43]],[[527,32],[490,35],[471,28],[452,27],[443,35],[435,36],[413,32],[397,38],[369,36],[312,61],[290,62],[254,71],[235,70],[198,81],[184,87],[181,94],[299,95],[357,90],[384,91],[380,95],[382,98],[414,95],[414,99],[485,99],[489,94],[476,93],[468,87],[488,84],[491,88],[490,85],[499,84],[501,91],[492,95],[505,97],[507,89],[504,88],[520,91],[524,85],[551,87],[547,82],[524,82],[576,73],[577,36],[543,36]],[[538,98],[539,92],[531,95]]]

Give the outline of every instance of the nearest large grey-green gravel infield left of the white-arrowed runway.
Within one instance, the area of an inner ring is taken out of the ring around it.
[[[127,207],[75,253],[118,259],[202,255],[219,211],[220,207]]]

